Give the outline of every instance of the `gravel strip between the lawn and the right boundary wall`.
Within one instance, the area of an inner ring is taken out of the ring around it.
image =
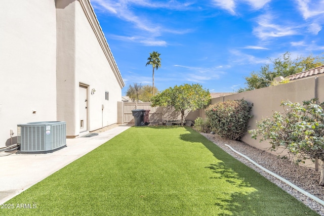
[[[247,157],[254,160],[259,165],[264,168],[274,172],[276,175],[290,181],[294,185],[300,187],[304,191],[316,196],[317,198],[324,200],[324,187],[318,185],[319,181],[319,172],[314,169],[307,167],[302,167],[292,163],[288,159],[280,159],[277,156],[265,152],[263,150],[257,149],[253,146],[250,146],[244,142],[232,141],[223,139],[217,135],[201,133],[207,139],[214,142],[217,146],[222,148],[224,151],[232,155],[234,158],[239,160],[242,163],[245,163],[249,167],[253,168],[259,172],[262,176],[276,184],[278,187],[287,191],[292,196],[296,197],[298,200],[305,203],[310,208],[314,209],[318,214],[324,216],[324,206],[317,203],[316,201],[308,198],[299,191],[290,187],[284,182],[276,179],[267,172],[263,171],[259,167],[255,166],[253,163],[248,161],[246,158],[241,157],[240,155],[233,152],[231,149],[225,146],[225,144],[232,147],[234,150],[238,151],[241,154],[246,155]]]

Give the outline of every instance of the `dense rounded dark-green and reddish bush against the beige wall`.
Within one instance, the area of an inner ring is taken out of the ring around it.
[[[212,131],[226,139],[240,140],[247,132],[252,106],[244,99],[228,100],[210,105],[205,111]]]

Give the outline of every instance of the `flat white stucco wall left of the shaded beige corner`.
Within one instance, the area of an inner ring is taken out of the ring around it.
[[[0,20],[3,147],[10,144],[10,129],[17,136],[17,124],[56,120],[55,2],[1,1]]]

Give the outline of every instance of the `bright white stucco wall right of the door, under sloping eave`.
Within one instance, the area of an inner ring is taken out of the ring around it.
[[[89,85],[89,131],[117,123],[117,101],[121,89],[83,9],[76,5],[76,79]],[[78,84],[78,83],[77,83]],[[109,92],[109,100],[105,92]],[[102,110],[102,105],[104,109]]]

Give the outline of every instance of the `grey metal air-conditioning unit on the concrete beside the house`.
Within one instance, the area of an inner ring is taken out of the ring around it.
[[[42,121],[18,124],[19,153],[47,153],[66,146],[66,122]]]

